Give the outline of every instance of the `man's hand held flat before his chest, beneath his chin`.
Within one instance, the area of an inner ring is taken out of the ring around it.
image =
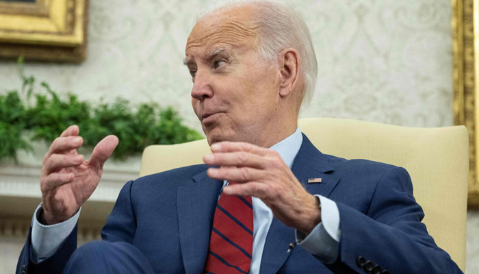
[[[203,161],[220,168],[209,168],[209,177],[238,183],[224,188],[227,195],[258,197],[276,218],[304,234],[320,223],[319,199],[302,187],[276,151],[246,142],[218,142],[211,151]]]

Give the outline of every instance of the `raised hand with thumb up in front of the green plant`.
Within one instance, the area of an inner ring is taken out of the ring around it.
[[[40,222],[53,225],[70,219],[92,195],[103,174],[103,164],[112,155],[118,138],[103,138],[84,161],[77,149],[83,144],[79,127],[71,125],[56,138],[43,158],[40,174],[43,214]]]

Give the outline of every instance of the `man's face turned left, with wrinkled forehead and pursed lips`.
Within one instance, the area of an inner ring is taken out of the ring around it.
[[[276,65],[257,57],[253,12],[249,6],[218,10],[198,21],[187,40],[192,105],[210,145],[261,145],[279,100]]]

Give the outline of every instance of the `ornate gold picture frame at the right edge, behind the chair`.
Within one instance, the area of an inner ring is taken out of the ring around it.
[[[479,0],[452,0],[454,125],[469,131],[469,208],[479,208]]]

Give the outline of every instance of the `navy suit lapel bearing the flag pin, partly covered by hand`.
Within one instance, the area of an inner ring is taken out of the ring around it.
[[[309,139],[302,135],[302,144],[294,159],[292,171],[296,178],[311,194],[328,197],[336,186],[339,178],[331,174],[333,167],[324,155],[314,147]],[[308,184],[309,178],[322,178],[318,184]],[[294,228],[287,227],[281,221],[273,218],[268,236],[266,236],[263,256],[261,258],[260,274],[276,273],[285,263],[289,255],[289,243],[296,243]]]

